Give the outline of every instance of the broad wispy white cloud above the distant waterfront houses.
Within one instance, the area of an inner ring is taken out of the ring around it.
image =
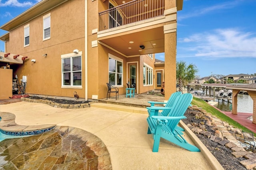
[[[256,35],[239,29],[216,29],[178,40],[183,57],[255,57]]]

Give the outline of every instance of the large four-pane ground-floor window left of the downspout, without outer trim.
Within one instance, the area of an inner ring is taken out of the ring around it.
[[[62,59],[62,86],[82,86],[82,57]]]

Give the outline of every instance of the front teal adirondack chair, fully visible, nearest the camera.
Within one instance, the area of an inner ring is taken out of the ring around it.
[[[154,145],[153,152],[158,152],[160,138],[164,138],[184,149],[192,152],[200,152],[200,149],[189,144],[183,137],[182,133],[176,129],[180,119],[185,119],[184,113],[193,99],[192,94],[186,93],[177,97],[168,116],[149,116],[148,134],[153,135]],[[166,108],[168,109],[168,108]]]

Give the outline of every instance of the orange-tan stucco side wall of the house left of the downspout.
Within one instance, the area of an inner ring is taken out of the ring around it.
[[[49,96],[74,97],[76,91],[80,98],[85,97],[85,81],[82,89],[61,88],[61,55],[72,53],[74,49],[82,51],[82,76],[84,76],[84,2],[67,1],[52,10],[28,21],[30,24],[30,45],[24,47],[24,25],[10,31],[11,41],[6,51],[28,56],[14,74],[18,78],[27,76],[27,93]],[[76,10],[74,10],[76,9]],[[43,41],[43,16],[51,13],[50,39]],[[47,53],[47,57],[43,54]],[[31,59],[36,59],[32,63]]]

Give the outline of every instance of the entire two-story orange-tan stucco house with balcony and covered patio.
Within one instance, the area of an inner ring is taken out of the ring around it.
[[[106,98],[107,82],[119,94],[126,93],[126,83],[142,94],[164,80],[167,100],[176,92],[177,11],[182,4],[42,0],[0,27],[9,31],[0,39],[4,55],[10,53],[0,63],[10,67],[12,78],[26,76],[31,95],[72,98],[77,92],[80,98],[97,100]],[[155,63],[155,53],[165,53],[165,66]],[[14,57],[22,62],[16,64]]]

